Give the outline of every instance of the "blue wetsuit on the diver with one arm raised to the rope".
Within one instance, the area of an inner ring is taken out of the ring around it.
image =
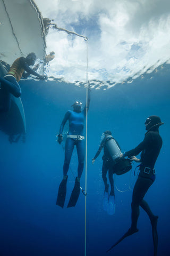
[[[90,104],[90,90],[88,90],[88,109]],[[69,132],[68,135],[83,135],[84,121],[86,117],[86,106],[83,111],[69,110],[64,116],[63,122],[60,126],[60,134],[62,134],[64,125],[66,121],[69,121]],[[69,165],[71,161],[71,156],[73,153],[74,146],[77,147],[78,153],[78,178],[81,178],[81,174],[84,166],[84,156],[85,156],[85,144],[84,139],[74,139],[67,138],[65,142],[65,159],[63,166],[63,174],[64,176],[67,174],[69,170]]]

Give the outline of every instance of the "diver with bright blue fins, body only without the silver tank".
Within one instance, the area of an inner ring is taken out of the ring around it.
[[[102,157],[102,159],[103,159],[102,179],[105,184],[103,207],[104,207],[104,210],[108,212],[108,214],[112,215],[115,212],[115,191],[114,191],[114,181],[113,181],[114,167],[113,167],[113,159],[112,159],[111,154],[109,153],[108,148],[106,146],[106,141],[108,139],[107,135],[112,135],[112,132],[105,131],[103,133],[103,135],[104,135],[104,138],[100,143],[99,149],[98,149],[95,157],[92,158],[92,164],[95,163],[96,158],[99,156],[101,150],[104,148],[104,155]],[[117,141],[116,141],[116,143],[117,143]],[[118,143],[117,143],[117,146],[120,148]],[[121,148],[120,148],[120,150],[121,150]],[[109,178],[109,181],[111,184],[111,192],[110,192],[109,196],[108,196],[109,185],[107,183],[107,178],[106,178],[107,171],[108,171],[108,178]]]

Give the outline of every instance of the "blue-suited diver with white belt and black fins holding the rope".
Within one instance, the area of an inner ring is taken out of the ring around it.
[[[64,125],[67,121],[69,121],[69,132],[67,134],[67,139],[65,142],[65,159],[63,166],[63,180],[60,183],[58,189],[58,196],[56,204],[64,207],[65,196],[66,196],[66,183],[67,183],[67,172],[69,170],[69,165],[71,161],[71,156],[73,153],[74,146],[77,147],[78,154],[78,177],[75,178],[75,185],[70,197],[69,204],[67,207],[75,206],[78,201],[80,194],[80,178],[83,171],[84,166],[84,155],[85,155],[85,145],[84,145],[84,136],[83,136],[83,128],[84,121],[86,117],[86,111],[89,109],[90,105],[90,83],[88,85],[88,103],[82,110],[82,103],[80,101],[75,101],[72,105],[73,110],[69,110],[66,112],[62,124],[60,126],[60,134],[58,135],[58,143],[61,144],[63,141],[63,129]]]

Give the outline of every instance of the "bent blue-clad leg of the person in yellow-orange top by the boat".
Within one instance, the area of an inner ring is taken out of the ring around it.
[[[21,87],[13,76],[1,77],[3,87],[6,87],[8,92],[13,94],[16,98],[21,96]]]

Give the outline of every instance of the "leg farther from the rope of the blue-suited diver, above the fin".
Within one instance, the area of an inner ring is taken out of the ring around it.
[[[74,140],[71,138],[67,138],[65,142],[65,159],[64,159],[64,166],[63,166],[64,177],[66,177],[67,172],[69,171],[69,165],[70,165],[73,149],[74,149]]]

